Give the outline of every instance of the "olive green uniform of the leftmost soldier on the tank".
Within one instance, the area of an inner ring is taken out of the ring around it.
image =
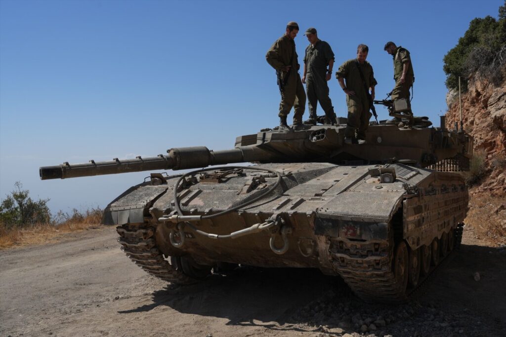
[[[289,72],[283,71],[281,73],[281,80],[286,81],[286,84],[281,94],[278,116],[287,116],[293,107],[293,123],[302,123],[302,116],[304,115],[304,109],[306,107],[306,93],[304,92],[301,76],[297,72],[299,69],[299,61],[297,60],[295,42],[286,35],[283,35],[274,42],[265,57],[267,62],[276,69],[276,71],[281,71],[283,67],[291,66]],[[288,76],[287,80],[286,76]]]

